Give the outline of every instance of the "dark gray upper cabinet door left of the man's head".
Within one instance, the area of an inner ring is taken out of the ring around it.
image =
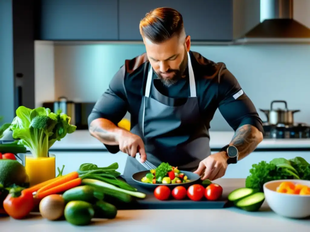
[[[39,40],[117,40],[117,0],[42,0]]]

